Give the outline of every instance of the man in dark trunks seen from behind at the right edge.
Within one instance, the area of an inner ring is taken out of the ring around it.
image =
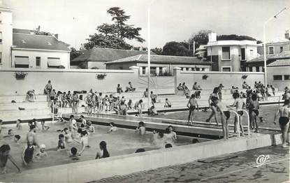
[[[289,100],[284,101],[284,105],[279,108],[274,116],[274,124],[276,124],[276,117],[280,115],[279,124],[282,131],[282,147],[289,148],[287,146],[287,134],[289,130],[289,118],[290,118],[290,105]]]

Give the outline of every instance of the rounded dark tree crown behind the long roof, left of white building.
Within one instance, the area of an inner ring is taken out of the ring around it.
[[[173,55],[173,56],[187,56],[189,57],[191,53],[189,50],[184,47],[181,43],[177,43],[175,41],[171,41],[164,45],[162,54],[164,55]]]

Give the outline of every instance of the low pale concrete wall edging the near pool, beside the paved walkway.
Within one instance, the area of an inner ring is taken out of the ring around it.
[[[128,175],[280,143],[280,134],[275,136],[258,134],[252,138],[216,140],[215,142],[202,142],[138,154],[26,170],[21,174],[0,175],[0,179],[3,182],[31,182],[31,180],[34,182],[43,182],[43,180],[45,182],[92,182],[115,175]]]

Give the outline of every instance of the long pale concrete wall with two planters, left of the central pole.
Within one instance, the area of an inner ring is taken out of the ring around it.
[[[24,71],[27,76],[24,80],[15,79],[15,71]],[[11,68],[0,71],[0,95],[26,94],[29,89],[35,89],[36,94],[43,94],[43,89],[52,81],[52,87],[59,91],[89,90],[98,92],[115,92],[117,84],[127,86],[131,81],[138,83],[138,70],[85,70],[85,69],[24,69]],[[106,73],[106,78],[99,80],[97,74]],[[109,84],[109,85],[108,85]]]

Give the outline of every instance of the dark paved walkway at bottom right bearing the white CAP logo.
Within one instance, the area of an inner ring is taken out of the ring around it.
[[[256,167],[260,155],[270,161]],[[235,157],[233,157],[236,155]],[[177,166],[110,177],[96,182],[286,182],[289,181],[289,149],[281,146],[263,147],[246,152],[228,154],[233,157],[206,159],[210,163],[194,161]],[[213,162],[212,162],[213,161]],[[138,163],[138,162],[136,162]]]

